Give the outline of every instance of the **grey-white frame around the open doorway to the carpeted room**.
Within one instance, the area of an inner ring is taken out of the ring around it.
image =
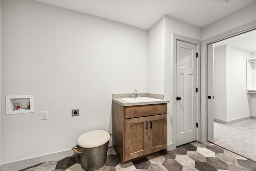
[[[201,127],[202,127],[202,141],[207,141],[208,138],[208,113],[207,113],[207,46],[208,44],[216,43],[221,40],[231,38],[233,36],[237,36],[239,34],[243,34],[245,32],[249,32],[251,30],[256,29],[256,21],[250,22],[248,24],[242,25],[238,28],[234,28],[217,36],[213,36],[212,38],[208,38],[201,42]],[[211,116],[213,117],[213,116]],[[212,130],[213,131],[213,130]]]

